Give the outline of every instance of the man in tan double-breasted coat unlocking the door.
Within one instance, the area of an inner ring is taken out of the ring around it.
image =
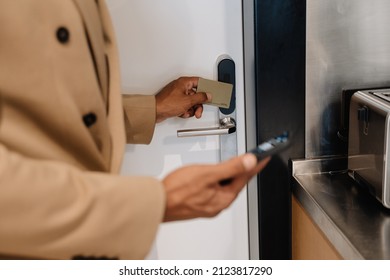
[[[149,143],[156,122],[199,118],[212,97],[182,77],[122,100],[102,0],[0,0],[0,37],[4,258],[142,259],[160,222],[218,214],[267,163],[244,155],[161,182],[117,175],[126,139]]]

